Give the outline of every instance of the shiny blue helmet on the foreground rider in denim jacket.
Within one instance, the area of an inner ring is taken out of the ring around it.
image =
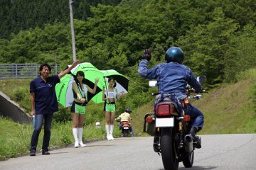
[[[183,51],[179,47],[170,47],[166,51],[165,60],[166,62],[178,62],[182,64],[184,60]]]

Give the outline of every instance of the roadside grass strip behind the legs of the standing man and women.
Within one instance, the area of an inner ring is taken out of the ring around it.
[[[33,126],[14,123],[12,120],[0,117],[0,161],[11,157],[19,157],[29,152]],[[114,137],[120,137],[117,124],[114,128]],[[100,128],[95,125],[85,125],[83,141],[105,139],[105,124]],[[66,147],[73,143],[72,122],[56,123],[53,121],[50,148]],[[43,142],[43,129],[38,140],[38,151],[41,150]]]

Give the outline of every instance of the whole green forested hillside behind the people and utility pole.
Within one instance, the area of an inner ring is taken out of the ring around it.
[[[137,74],[146,48],[153,67],[169,47],[181,47],[183,64],[215,88],[255,67],[255,11],[255,0],[74,0],[77,58],[126,75],[122,105],[130,108],[151,98]],[[72,62],[68,0],[2,0],[0,22],[0,64],[57,62],[64,69]]]

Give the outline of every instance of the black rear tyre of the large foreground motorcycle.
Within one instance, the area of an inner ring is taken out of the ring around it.
[[[177,148],[174,142],[174,128],[161,129],[161,157],[165,170],[178,169]]]

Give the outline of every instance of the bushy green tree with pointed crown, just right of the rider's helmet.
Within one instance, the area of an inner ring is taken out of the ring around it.
[[[223,81],[223,69],[227,64],[225,52],[238,29],[238,24],[230,18],[225,18],[221,8],[215,8],[213,15],[213,22],[188,30],[186,36],[178,41],[190,59],[185,59],[185,64],[190,66],[195,74],[205,74],[207,83],[211,85]]]

